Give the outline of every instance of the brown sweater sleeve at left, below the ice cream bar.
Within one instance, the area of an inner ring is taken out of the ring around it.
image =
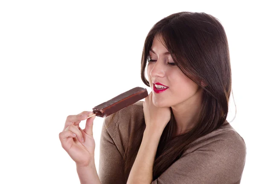
[[[122,169],[123,157],[106,128],[111,123],[109,127],[114,130],[115,122],[110,122],[112,118],[112,115],[106,117],[102,125],[99,150],[99,179],[101,184],[125,184],[124,171]]]

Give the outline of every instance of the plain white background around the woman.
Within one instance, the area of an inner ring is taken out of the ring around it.
[[[256,183],[252,2],[1,0],[0,183],[79,183],[58,138],[67,116],[136,86],[150,92],[140,79],[145,37],[180,11],[212,14],[225,28],[237,108],[233,120],[231,94],[227,120],[247,145],[241,183]],[[93,125],[97,171],[102,123]]]

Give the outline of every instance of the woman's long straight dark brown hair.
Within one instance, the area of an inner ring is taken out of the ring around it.
[[[201,109],[195,126],[181,135],[172,136],[175,118],[171,119],[161,135],[153,167],[153,180],[180,158],[186,147],[196,139],[209,134],[226,120],[231,92],[230,54],[227,36],[220,21],[203,12],[179,12],[157,22],[149,31],[141,58],[141,78],[145,78],[149,49],[156,35],[170,52],[177,67],[193,82],[203,88]],[[201,85],[201,81],[205,85]],[[125,150],[126,181],[142,141],[145,124],[131,136]]]

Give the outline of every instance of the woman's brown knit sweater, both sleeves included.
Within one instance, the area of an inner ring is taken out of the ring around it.
[[[134,128],[145,124],[142,101],[115,114],[106,117],[102,126],[99,155],[102,184],[126,184],[128,173],[122,170],[124,153],[132,141],[130,135],[136,134]],[[111,117],[113,122],[109,125]],[[152,184],[239,184],[245,157],[244,139],[228,124],[189,144],[181,158]]]

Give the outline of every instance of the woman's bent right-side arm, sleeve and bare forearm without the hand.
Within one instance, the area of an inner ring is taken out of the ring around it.
[[[146,131],[137,154],[128,184],[239,184],[243,173],[246,145],[233,130],[215,134],[205,144],[196,145],[152,181],[153,161],[160,134]]]

